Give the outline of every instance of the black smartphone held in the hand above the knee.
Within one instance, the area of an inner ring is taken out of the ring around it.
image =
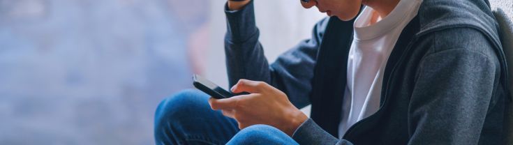
[[[200,75],[193,75],[193,85],[200,91],[203,91],[209,96],[212,96],[216,99],[230,98],[233,96],[237,96],[236,94],[231,93],[230,91],[226,91],[225,89],[217,86],[213,82],[210,82],[208,79],[201,77]]]

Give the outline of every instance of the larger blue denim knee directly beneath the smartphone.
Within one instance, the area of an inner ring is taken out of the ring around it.
[[[208,99],[186,90],[163,100],[155,113],[156,144],[226,144],[239,131],[237,122],[212,110]]]

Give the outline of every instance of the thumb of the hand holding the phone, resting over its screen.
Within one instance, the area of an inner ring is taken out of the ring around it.
[[[251,81],[247,79],[239,79],[239,82],[232,86],[231,91],[233,93],[260,93],[262,89],[265,89],[269,84],[265,82]]]

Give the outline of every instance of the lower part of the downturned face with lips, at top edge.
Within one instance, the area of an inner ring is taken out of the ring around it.
[[[301,1],[301,4],[304,8],[316,6],[322,13],[348,21],[356,17],[362,6],[362,0],[309,0],[308,3]]]

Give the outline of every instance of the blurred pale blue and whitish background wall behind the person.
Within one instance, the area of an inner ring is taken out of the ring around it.
[[[158,102],[225,74],[225,1],[0,0],[0,144],[154,144]],[[269,61],[322,14],[256,1]]]

